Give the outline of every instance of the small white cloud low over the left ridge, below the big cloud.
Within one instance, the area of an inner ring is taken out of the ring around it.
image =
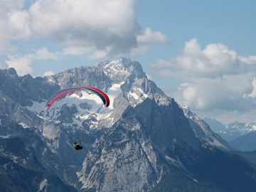
[[[15,68],[18,75],[26,75],[33,72],[33,69],[31,68],[33,60],[48,60],[57,58],[58,55],[55,53],[50,53],[47,48],[40,48],[33,54],[22,56],[9,55],[9,60],[6,60],[6,64],[9,68]]]

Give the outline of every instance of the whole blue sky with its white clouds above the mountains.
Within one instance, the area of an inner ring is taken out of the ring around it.
[[[256,122],[256,1],[0,0],[0,68],[42,76],[121,56],[201,117]]]

